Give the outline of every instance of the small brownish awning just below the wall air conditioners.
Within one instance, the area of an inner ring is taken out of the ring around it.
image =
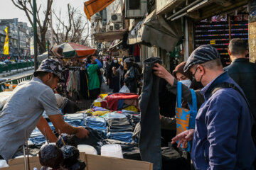
[[[127,30],[114,30],[106,33],[95,33],[93,35],[97,42],[103,42],[122,39],[125,33],[127,33]]]

